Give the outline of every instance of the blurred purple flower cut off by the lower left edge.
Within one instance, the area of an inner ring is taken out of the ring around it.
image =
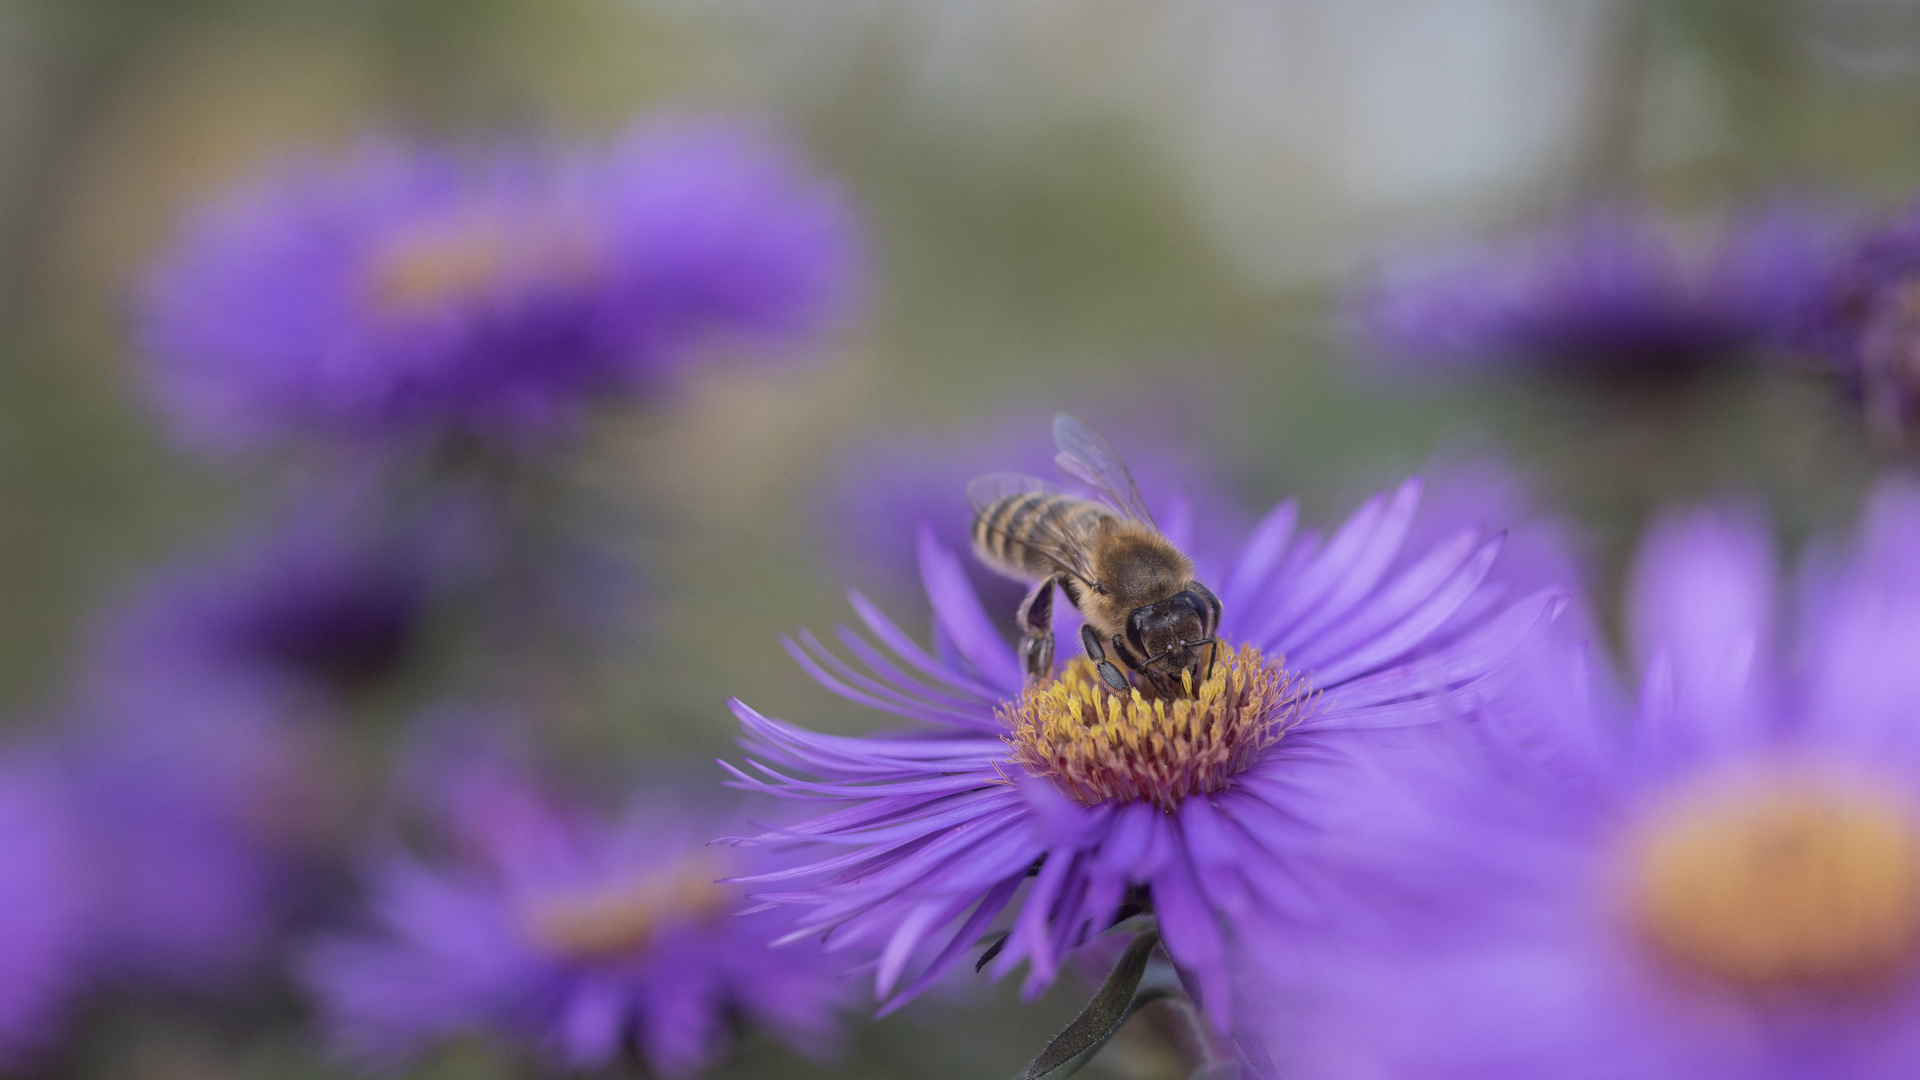
[[[52,759],[0,751],[0,1067],[23,1070],[61,1036],[84,984],[88,867]]]

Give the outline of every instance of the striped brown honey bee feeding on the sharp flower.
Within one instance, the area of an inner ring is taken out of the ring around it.
[[[1027,676],[1044,678],[1054,669],[1054,586],[1060,586],[1087,619],[1081,644],[1106,686],[1116,692],[1133,686],[1119,669],[1125,665],[1173,698],[1181,694],[1181,673],[1198,680],[1213,669],[1219,600],[1194,580],[1192,559],[1154,525],[1114,444],[1079,417],[1060,413],[1054,446],[1060,471],[1098,492],[1098,500],[1014,473],[968,484],[973,555],[1010,578],[1033,582],[1016,615]]]

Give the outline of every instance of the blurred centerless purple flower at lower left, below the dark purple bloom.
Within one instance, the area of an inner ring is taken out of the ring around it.
[[[265,972],[340,821],[323,730],[269,684],[96,692],[67,732],[92,972],[232,990]]]

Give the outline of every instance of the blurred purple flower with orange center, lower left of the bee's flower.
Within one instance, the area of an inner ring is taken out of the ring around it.
[[[818,949],[770,951],[778,915],[737,915],[739,890],[718,884],[766,867],[707,846],[732,819],[664,790],[601,819],[513,767],[461,769],[438,790],[451,853],[382,859],[376,926],[307,957],[346,1053],[394,1065],[492,1034],[572,1068],[636,1049],[685,1076],[720,1055],[732,1017],[806,1051],[831,1042],[845,982]]]

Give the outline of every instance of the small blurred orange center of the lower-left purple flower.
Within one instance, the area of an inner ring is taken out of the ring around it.
[[[553,892],[520,911],[528,938],[572,959],[616,959],[645,947],[668,924],[722,915],[733,894],[726,871],[695,859],[666,872],[630,876],[578,892]]]

